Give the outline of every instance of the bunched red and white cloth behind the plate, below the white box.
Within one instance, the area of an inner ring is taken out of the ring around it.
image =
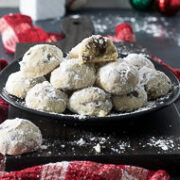
[[[14,53],[16,43],[55,42],[63,38],[62,34],[47,33],[40,27],[33,26],[29,16],[9,14],[0,18],[0,32],[4,48]]]

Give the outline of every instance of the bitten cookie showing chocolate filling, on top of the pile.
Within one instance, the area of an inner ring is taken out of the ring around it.
[[[114,61],[117,57],[113,42],[100,35],[84,39],[69,53],[69,58],[78,58],[81,63]]]

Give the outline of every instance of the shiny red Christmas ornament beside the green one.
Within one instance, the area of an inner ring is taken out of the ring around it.
[[[164,15],[175,15],[180,10],[180,0],[156,0],[155,6]]]

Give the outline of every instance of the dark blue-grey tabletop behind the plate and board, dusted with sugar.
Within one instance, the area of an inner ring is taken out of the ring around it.
[[[8,13],[16,13],[18,9],[0,9],[0,17]],[[180,15],[163,17],[158,13],[142,13],[134,10],[122,9],[86,9],[67,15],[85,15],[91,18],[96,33],[113,34],[114,26],[122,22],[130,22],[134,27],[137,42],[147,47],[154,55],[163,59],[172,67],[180,68]],[[49,32],[60,32],[61,20],[46,20],[36,22]],[[0,58],[13,61],[13,55],[6,52],[0,41]],[[176,102],[180,111],[180,100]],[[180,179],[180,175],[173,175],[173,179]]]

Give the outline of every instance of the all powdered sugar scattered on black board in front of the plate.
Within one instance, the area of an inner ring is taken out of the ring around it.
[[[154,153],[180,153],[180,138],[175,137],[165,137],[165,136],[150,136],[147,138],[137,139],[137,146],[134,146],[134,142],[128,137],[114,137],[109,136],[99,136],[98,134],[85,134],[79,135],[81,138],[71,141],[61,141],[61,140],[44,140],[41,149],[38,151],[38,156],[47,154],[58,155],[84,155],[87,156],[91,154],[100,155],[112,155],[112,154],[129,154],[133,152],[144,152],[149,153],[153,151]],[[76,138],[76,137],[74,137]]]

